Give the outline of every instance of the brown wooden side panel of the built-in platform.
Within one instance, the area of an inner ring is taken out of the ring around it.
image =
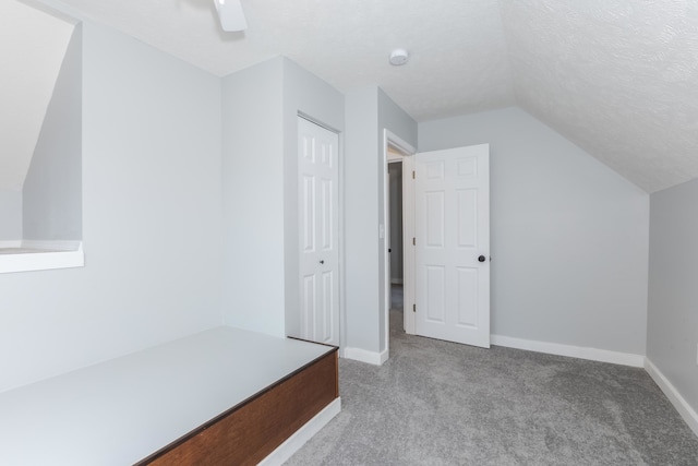
[[[337,351],[141,464],[256,465],[338,396]]]

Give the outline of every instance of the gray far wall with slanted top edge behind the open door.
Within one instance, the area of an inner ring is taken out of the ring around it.
[[[645,355],[648,194],[518,108],[420,123],[419,143],[490,144],[493,334]]]

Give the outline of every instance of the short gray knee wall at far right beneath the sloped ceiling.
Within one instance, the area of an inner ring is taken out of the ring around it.
[[[647,356],[698,411],[698,180],[650,198]]]

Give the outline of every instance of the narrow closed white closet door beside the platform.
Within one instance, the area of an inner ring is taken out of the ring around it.
[[[298,118],[301,338],[339,346],[339,136]]]

